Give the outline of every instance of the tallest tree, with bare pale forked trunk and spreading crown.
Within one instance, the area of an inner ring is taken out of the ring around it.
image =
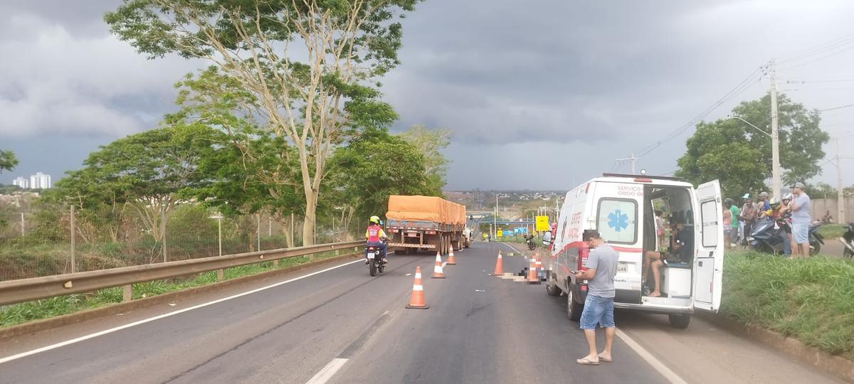
[[[140,52],[212,61],[254,96],[261,126],[296,148],[312,244],[326,160],[348,128],[389,119],[365,84],[398,64],[397,19],[418,1],[126,0],[104,18]]]

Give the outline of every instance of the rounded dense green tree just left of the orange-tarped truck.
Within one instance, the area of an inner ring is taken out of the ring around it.
[[[333,177],[339,206],[354,208],[354,217],[366,221],[382,216],[389,206],[389,195],[439,195],[442,186],[430,183],[424,155],[401,137],[384,130],[366,132],[362,137],[338,148],[332,158]]]

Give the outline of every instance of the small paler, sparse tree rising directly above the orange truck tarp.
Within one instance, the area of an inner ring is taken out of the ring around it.
[[[412,125],[409,130],[401,133],[401,137],[418,148],[424,156],[424,169],[430,184],[441,190],[446,183],[447,165],[450,161],[440,151],[451,143],[451,131],[430,130],[424,125]]]

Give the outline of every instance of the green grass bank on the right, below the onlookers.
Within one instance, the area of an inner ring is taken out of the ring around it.
[[[854,358],[854,261],[727,253],[723,313]]]

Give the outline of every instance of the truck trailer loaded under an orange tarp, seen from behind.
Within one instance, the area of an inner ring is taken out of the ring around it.
[[[468,247],[464,236],[465,206],[436,196],[389,196],[386,212],[389,252],[412,254],[419,250],[447,254]]]

